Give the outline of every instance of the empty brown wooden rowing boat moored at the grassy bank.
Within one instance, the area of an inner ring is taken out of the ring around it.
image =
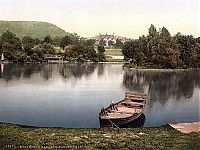
[[[147,101],[144,93],[125,93],[125,98],[99,113],[100,127],[120,127],[140,117]]]

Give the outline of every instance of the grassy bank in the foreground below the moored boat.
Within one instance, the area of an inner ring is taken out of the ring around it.
[[[196,150],[200,147],[199,141],[199,133],[183,134],[169,126],[134,129],[64,129],[0,124],[0,149],[15,147],[15,149]]]

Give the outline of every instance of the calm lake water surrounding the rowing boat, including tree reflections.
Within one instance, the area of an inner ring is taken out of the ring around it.
[[[0,64],[0,122],[98,128],[102,107],[148,94],[145,127],[200,120],[200,70],[128,70],[123,64]]]

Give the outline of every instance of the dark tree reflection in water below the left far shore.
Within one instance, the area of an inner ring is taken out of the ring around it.
[[[60,74],[65,79],[81,78],[92,74],[96,66],[97,64],[3,64],[0,78],[10,81],[13,78],[31,78],[36,73],[46,80],[52,78],[53,74]]]

